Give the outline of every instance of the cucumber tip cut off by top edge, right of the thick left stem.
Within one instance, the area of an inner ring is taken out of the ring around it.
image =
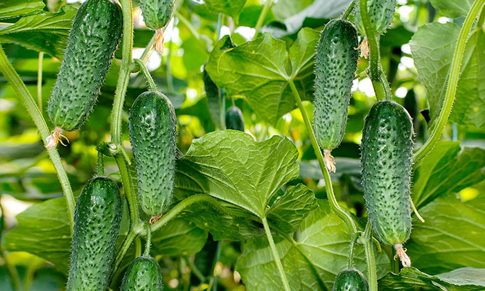
[[[141,0],[141,14],[148,28],[159,29],[170,21],[173,12],[173,0]]]

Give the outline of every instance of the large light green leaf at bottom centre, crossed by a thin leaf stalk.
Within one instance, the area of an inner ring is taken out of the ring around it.
[[[299,238],[293,242],[276,236],[276,249],[291,290],[331,290],[336,274],[346,267],[350,234],[326,200],[303,220]],[[389,259],[376,253],[378,276],[388,271]],[[355,267],[366,273],[364,248],[355,249]],[[272,251],[264,238],[248,240],[236,265],[248,291],[281,290],[281,279]]]

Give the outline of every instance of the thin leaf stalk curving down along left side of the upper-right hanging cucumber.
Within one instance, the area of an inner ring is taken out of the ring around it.
[[[344,220],[346,226],[349,228],[349,231],[354,233],[355,231],[357,231],[355,222],[352,220],[349,214],[347,214],[340,207],[340,205],[337,202],[337,199],[335,198],[335,194],[333,193],[332,180],[330,179],[330,173],[328,173],[328,170],[325,166],[324,155],[321,154],[321,150],[317,143],[317,139],[315,139],[315,133],[313,132],[312,125],[310,124],[310,118],[308,118],[308,115],[306,115],[305,108],[303,107],[303,103],[301,102],[301,98],[298,93],[297,87],[294,85],[294,82],[291,78],[288,78],[287,80],[293,92],[294,99],[297,100],[297,104],[300,109],[301,116],[303,116],[303,121],[305,123],[306,131],[310,136],[310,141],[312,142],[313,150],[315,150],[315,155],[317,156],[317,160],[321,168],[321,173],[324,175],[325,188],[328,196],[328,201],[330,202],[330,205],[332,206],[335,213],[337,213],[337,215],[342,220]]]

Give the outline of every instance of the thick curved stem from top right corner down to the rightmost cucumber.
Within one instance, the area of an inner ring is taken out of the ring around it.
[[[463,26],[461,26],[461,30],[458,35],[457,46],[455,48],[455,53],[453,54],[450,78],[448,78],[448,86],[446,87],[445,100],[443,100],[443,106],[441,107],[438,121],[433,127],[430,137],[414,155],[414,164],[417,164],[427,154],[430,153],[430,151],[434,148],[436,143],[441,138],[441,134],[443,134],[446,123],[448,123],[448,117],[450,117],[451,109],[453,107],[453,103],[455,102],[455,94],[457,92],[458,78],[461,69],[461,60],[463,59],[463,55],[465,52],[466,39],[468,39],[468,34],[470,33],[473,21],[475,21],[475,18],[477,17],[484,3],[485,0],[475,0],[472,7],[470,8],[470,11],[468,12],[468,15],[466,15]]]

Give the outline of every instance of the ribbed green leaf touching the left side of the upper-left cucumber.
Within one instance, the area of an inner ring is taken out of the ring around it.
[[[24,16],[17,23],[0,30],[0,42],[15,42],[61,58],[76,11],[72,6],[62,6],[56,13]]]

